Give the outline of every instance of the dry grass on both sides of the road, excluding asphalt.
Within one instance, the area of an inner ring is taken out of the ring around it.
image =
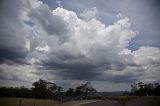
[[[46,99],[0,98],[0,106],[72,106],[103,100],[117,101],[122,106],[160,106],[160,97],[154,96],[89,96],[85,100],[56,102]]]

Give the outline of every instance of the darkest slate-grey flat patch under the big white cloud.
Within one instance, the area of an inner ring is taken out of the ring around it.
[[[51,70],[50,73],[56,73],[63,79],[72,80],[93,80],[96,79],[101,73],[96,70],[98,66],[94,66],[91,63],[56,63],[49,62],[43,64],[45,68]]]

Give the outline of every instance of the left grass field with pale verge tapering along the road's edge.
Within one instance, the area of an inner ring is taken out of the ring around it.
[[[0,98],[0,106],[78,106],[96,101],[98,100],[79,100],[60,103],[44,99]]]

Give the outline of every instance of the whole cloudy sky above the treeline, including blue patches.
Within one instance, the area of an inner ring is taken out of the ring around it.
[[[98,91],[160,81],[159,0],[1,0],[0,86]]]

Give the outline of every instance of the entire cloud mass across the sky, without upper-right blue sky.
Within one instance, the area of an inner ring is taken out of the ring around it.
[[[142,45],[131,50],[139,31],[121,13],[105,24],[95,6],[76,13],[65,6],[51,9],[38,0],[1,2],[1,80],[43,78],[94,85],[160,80],[160,48]]]

